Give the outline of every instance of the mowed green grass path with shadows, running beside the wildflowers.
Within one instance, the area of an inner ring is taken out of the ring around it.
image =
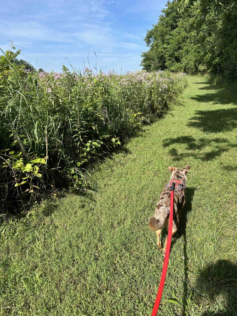
[[[237,100],[205,77],[187,81],[171,112],[96,166],[94,193],[3,224],[1,315],[150,315],[163,256],[148,219],[167,167],[186,164],[158,315],[236,315]]]

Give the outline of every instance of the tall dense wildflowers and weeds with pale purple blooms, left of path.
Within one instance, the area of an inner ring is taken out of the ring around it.
[[[37,72],[0,59],[0,201],[61,185],[83,189],[85,166],[151,122],[177,97],[182,75]]]

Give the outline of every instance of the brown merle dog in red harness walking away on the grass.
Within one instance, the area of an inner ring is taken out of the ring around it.
[[[161,192],[160,200],[156,204],[155,215],[149,219],[149,227],[154,230],[157,235],[157,247],[161,249],[161,230],[165,224],[168,231],[169,227],[169,211],[170,211],[170,186],[172,182],[175,182],[174,190],[174,213],[173,213],[173,227],[172,236],[179,229],[179,221],[181,212],[185,204],[184,189],[187,181],[187,173],[189,171],[189,165],[178,169],[176,167],[168,167],[168,171],[172,172],[170,182],[166,185],[165,189]],[[165,246],[163,249],[163,255],[165,256],[167,246],[167,238],[165,240]]]

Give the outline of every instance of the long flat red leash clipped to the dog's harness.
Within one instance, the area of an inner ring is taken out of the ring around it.
[[[159,289],[156,295],[155,304],[151,313],[151,316],[156,316],[158,312],[158,308],[161,301],[161,295],[163,292],[164,284],[165,284],[165,277],[168,267],[168,261],[169,261],[169,252],[170,252],[170,244],[171,244],[171,237],[172,237],[172,226],[173,226],[173,194],[174,194],[174,185],[175,183],[172,183],[172,186],[170,188],[170,212],[169,212],[169,230],[168,230],[168,239],[167,239],[167,247],[166,247],[166,253],[165,253],[165,259],[164,259],[164,265],[161,273],[161,281],[159,285]]]

